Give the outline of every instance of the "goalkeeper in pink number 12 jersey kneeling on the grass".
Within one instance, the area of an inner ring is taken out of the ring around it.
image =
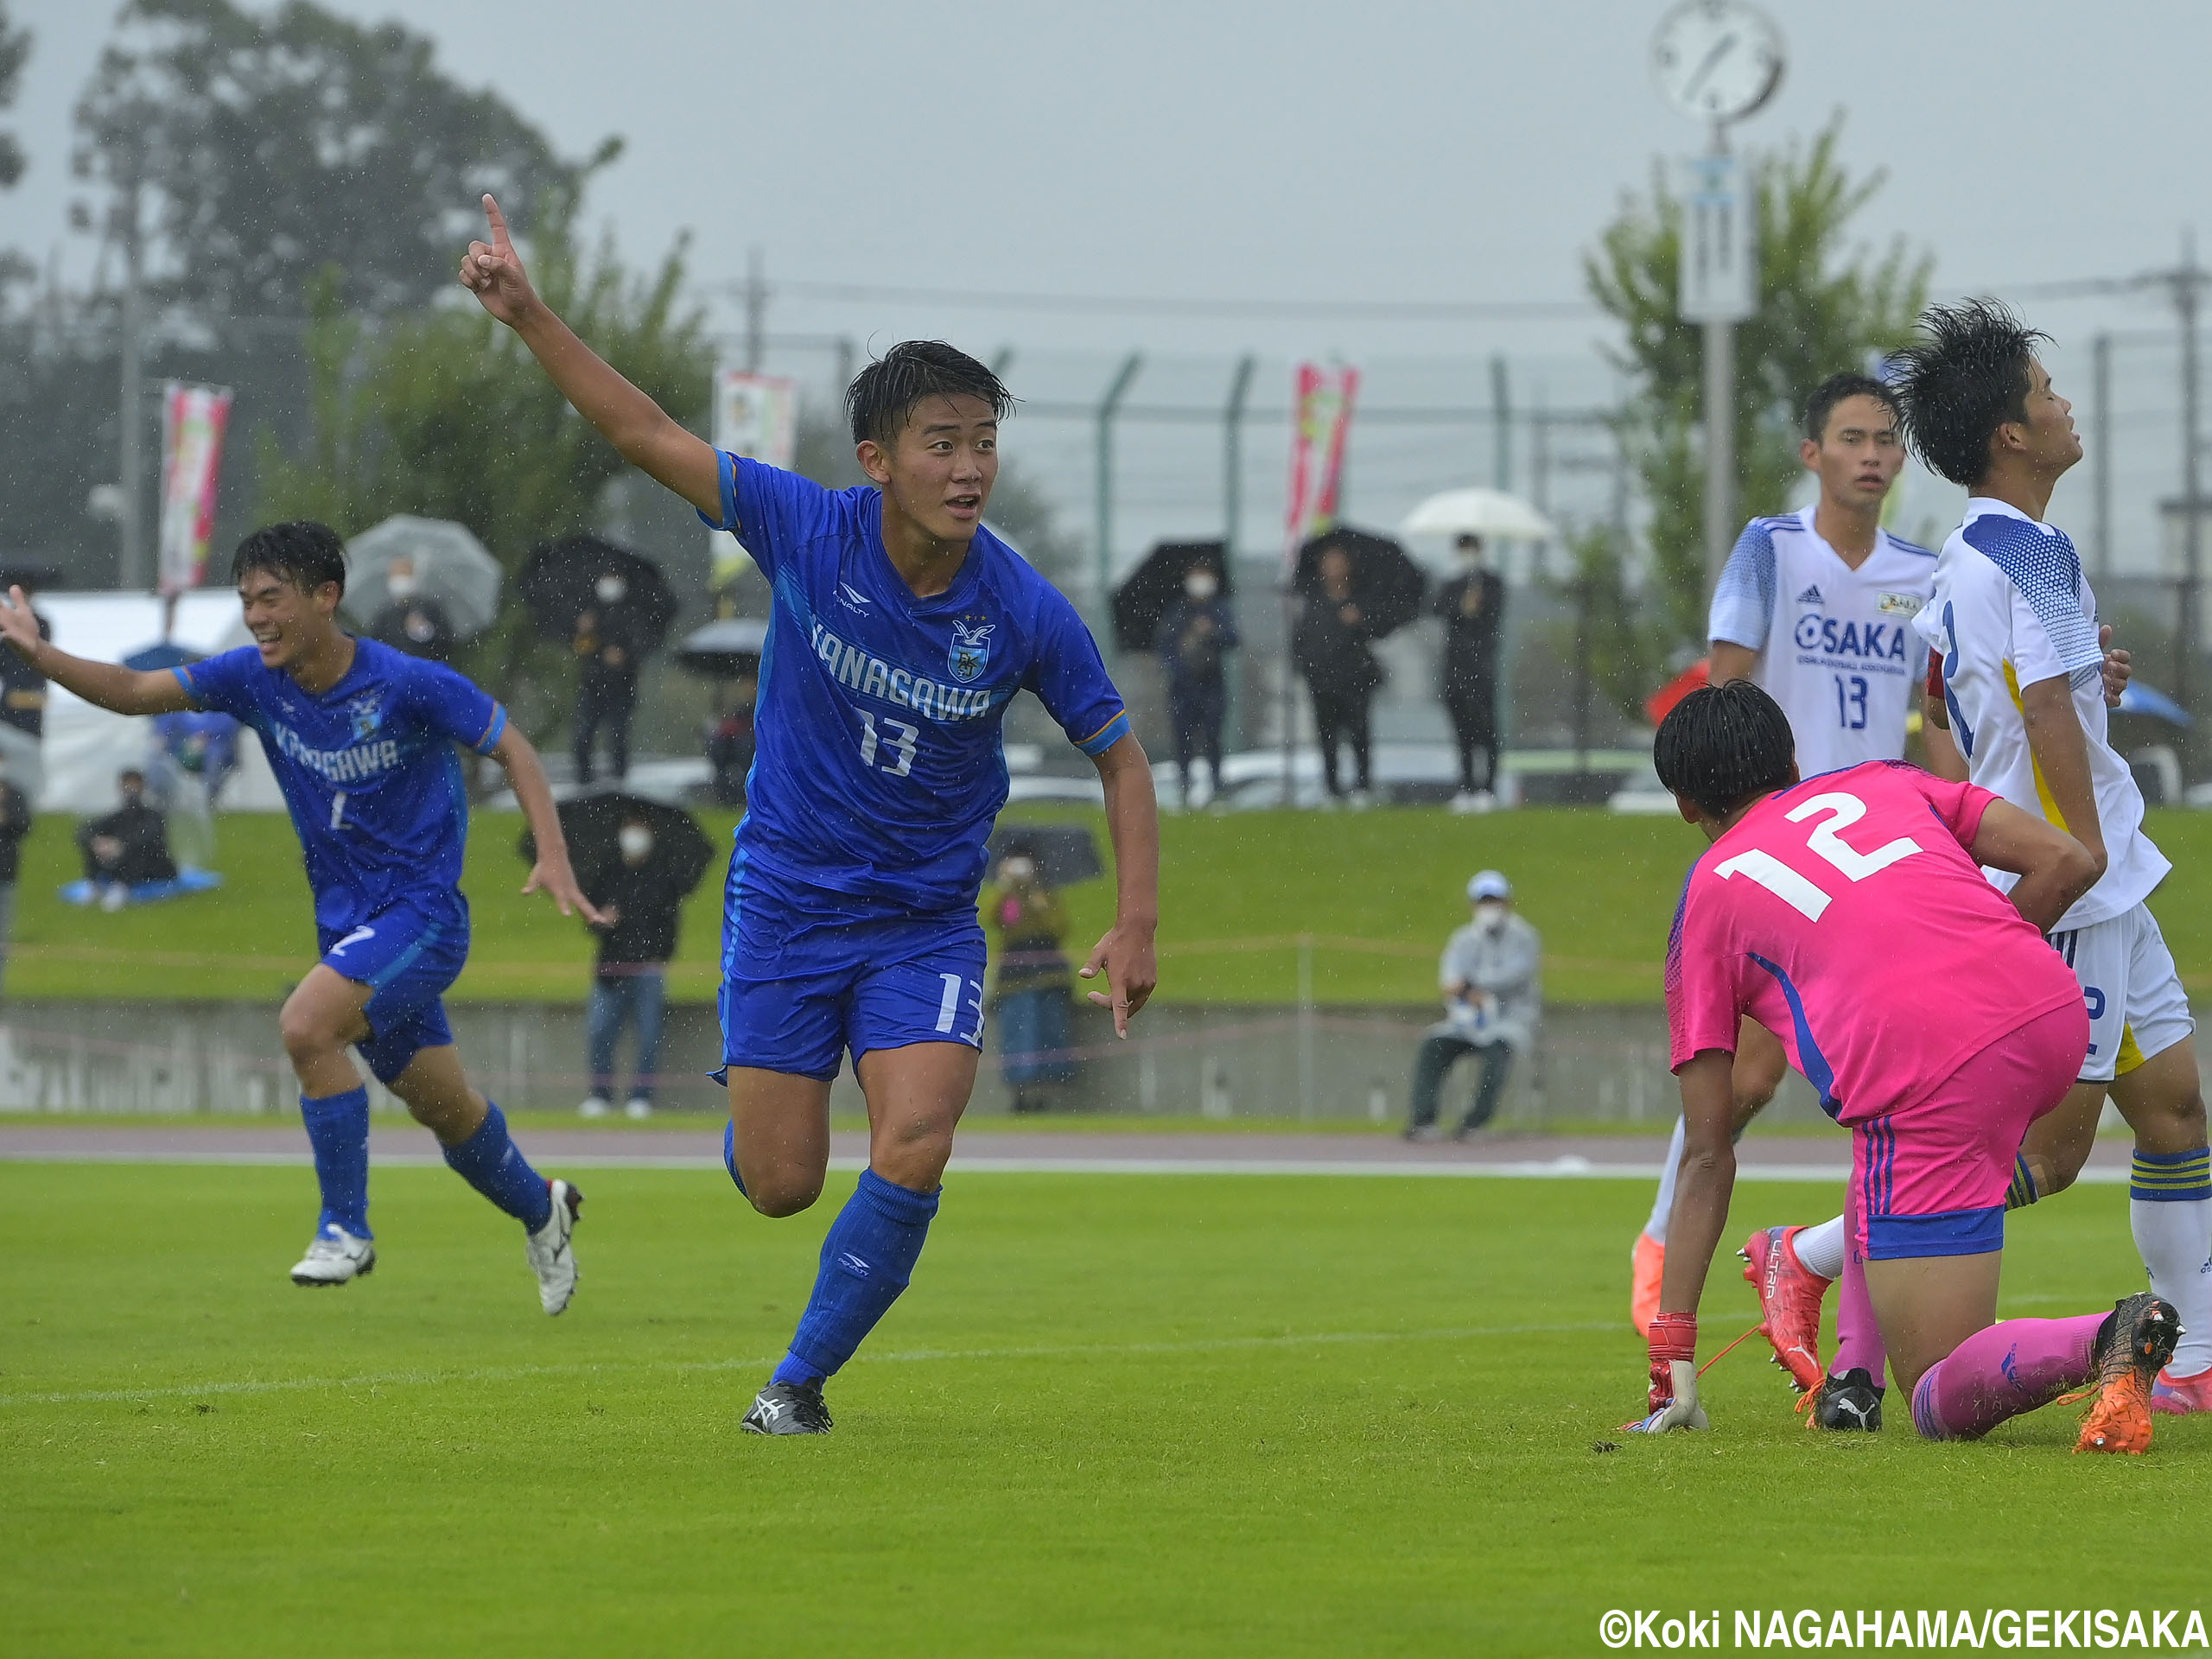
[[[1790,721],[1750,681],[1686,697],[1652,761],[1710,847],[1668,942],[1688,1150],[1639,1427],[1705,1427],[1697,1303],[1736,1179],[1730,1068],[1750,1015],[1851,1128],[1845,1223],[1913,1427],[1971,1440],[2095,1383],[2075,1449],[2146,1451],[2150,1385],[2179,1336],[2170,1303],[1995,1325],[2013,1157],[2088,1051],[2081,991],[2042,929],[2097,880],[2097,858],[1989,790],[1902,763],[1801,783]],[[2020,880],[2000,894],[1980,865]]]

